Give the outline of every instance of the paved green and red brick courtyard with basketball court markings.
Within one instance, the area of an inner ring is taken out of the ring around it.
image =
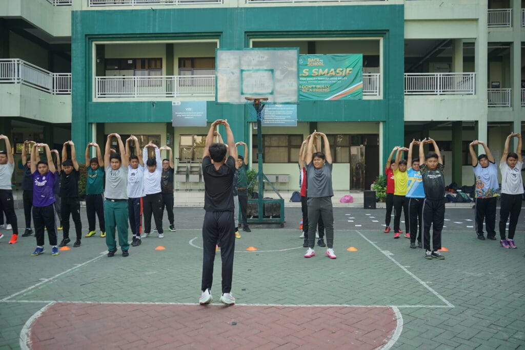
[[[127,258],[108,258],[98,231],[57,257],[46,237],[31,257],[34,236],[9,245],[0,230],[0,349],[525,349],[525,210],[518,249],[503,249],[476,239],[470,206],[447,207],[445,260],[384,234],[385,209],[356,207],[334,208],[338,258],[316,246],[305,259],[300,207],[285,213],[285,227],[251,224],[235,241],[229,307],[218,303],[220,250],[215,301],[198,305],[201,207],[175,207],[177,231]]]

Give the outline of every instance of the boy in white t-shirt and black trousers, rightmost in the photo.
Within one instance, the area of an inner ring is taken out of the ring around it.
[[[516,153],[509,152],[510,139],[517,137]],[[505,140],[505,149],[501,155],[499,169],[501,171],[501,209],[499,210],[499,236],[503,248],[517,248],[514,243],[514,233],[523,201],[523,181],[521,178],[521,134],[512,133]],[[505,239],[505,228],[509,218],[509,238]]]

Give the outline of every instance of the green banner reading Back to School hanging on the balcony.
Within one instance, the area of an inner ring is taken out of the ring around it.
[[[363,98],[363,55],[299,55],[300,100]]]

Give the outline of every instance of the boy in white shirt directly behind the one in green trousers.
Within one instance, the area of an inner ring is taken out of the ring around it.
[[[140,235],[142,233],[142,197],[144,197],[144,161],[137,154],[131,155],[130,142],[134,142],[135,152],[139,152],[140,146],[137,136],[131,135],[126,140],[126,154],[130,156],[128,165],[128,214],[131,235],[133,236],[131,245],[138,247],[142,243]]]

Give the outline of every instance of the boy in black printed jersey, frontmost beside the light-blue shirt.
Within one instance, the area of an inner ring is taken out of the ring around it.
[[[432,143],[434,152],[425,156],[423,145]],[[441,249],[441,231],[445,222],[445,167],[436,141],[423,139],[419,141],[419,159],[425,158],[425,164],[419,165],[423,178],[425,200],[423,203],[423,248],[425,259],[440,259],[445,257],[438,250]],[[432,249],[430,249],[430,225],[432,225]]]

